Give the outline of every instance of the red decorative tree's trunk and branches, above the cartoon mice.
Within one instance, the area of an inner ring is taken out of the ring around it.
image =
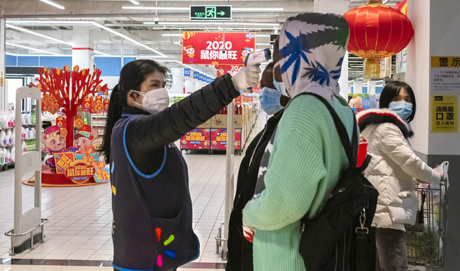
[[[62,108],[62,113],[65,114],[67,148],[73,145],[73,117],[76,116],[78,107],[82,106],[85,99],[88,101],[91,96],[96,97],[101,91],[106,95],[108,91],[107,84],[100,85],[102,80],[99,69],[94,69],[92,75],[89,69],[78,69],[79,67],[75,66],[73,71],[69,71],[69,66],[65,65],[62,70],[52,68],[50,71],[43,67],[38,69],[40,78],[36,78],[36,87],[43,94],[43,110],[55,114]]]

